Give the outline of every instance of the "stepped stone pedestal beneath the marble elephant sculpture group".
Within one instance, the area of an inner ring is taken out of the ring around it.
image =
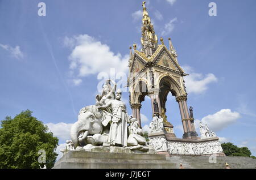
[[[69,151],[53,169],[164,169],[175,168],[165,155],[135,153],[121,147],[103,147],[93,151]],[[152,152],[152,151],[151,151]]]

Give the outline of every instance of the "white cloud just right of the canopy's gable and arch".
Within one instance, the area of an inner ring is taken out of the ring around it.
[[[208,84],[218,81],[216,76],[212,73],[203,75],[193,72],[192,68],[189,66],[183,68],[189,73],[189,76],[184,76],[185,86],[188,93],[203,93],[208,89]]]

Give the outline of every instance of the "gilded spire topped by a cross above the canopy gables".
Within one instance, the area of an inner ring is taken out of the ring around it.
[[[143,7],[143,17],[142,17],[142,37],[141,44],[142,50],[146,54],[146,57],[152,56],[158,46],[158,38],[155,35],[154,27],[151,23],[150,16],[148,16],[147,8],[145,6],[145,1],[142,3]]]

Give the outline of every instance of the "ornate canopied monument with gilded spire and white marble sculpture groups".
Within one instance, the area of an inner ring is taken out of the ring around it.
[[[53,168],[176,168],[167,157],[225,156],[219,138],[207,125],[200,123],[197,134],[183,79],[188,74],[179,65],[171,38],[168,46],[162,37],[158,39],[145,2],[142,7],[142,49],[134,44],[127,62],[133,114],[127,114],[117,84],[106,80],[96,103],[81,108],[77,121],[72,122],[71,139]],[[166,116],[170,92],[179,106],[176,113],[183,125],[182,138],[176,137]],[[142,131],[140,114],[145,96],[150,97],[152,107],[148,137]]]

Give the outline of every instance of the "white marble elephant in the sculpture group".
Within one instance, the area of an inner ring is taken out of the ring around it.
[[[80,109],[78,121],[71,127],[71,139],[76,149],[86,144],[101,145],[108,140],[108,136],[102,135],[103,113],[96,105],[85,106]]]

